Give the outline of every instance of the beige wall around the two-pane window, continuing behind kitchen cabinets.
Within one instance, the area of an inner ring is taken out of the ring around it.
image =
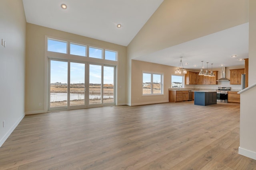
[[[241,63],[244,64],[244,63]],[[244,68],[244,65],[226,67],[226,78],[230,79],[230,70]],[[169,101],[168,89],[171,88],[171,75],[174,75],[176,67],[167,66],[162,64],[148,63],[143,61],[132,60],[132,88],[131,88],[131,103],[130,106],[142,105],[142,104],[153,104],[162,103]],[[222,68],[215,68],[214,71],[218,71],[218,79],[221,78]],[[154,73],[164,74],[164,95],[156,96],[142,96],[142,72],[149,71]],[[199,70],[189,70],[199,72]],[[183,74],[184,75],[184,74]],[[218,89],[219,86],[231,87],[231,90],[241,90],[241,85],[230,84],[230,81],[218,82],[216,85],[186,85],[186,89]]]

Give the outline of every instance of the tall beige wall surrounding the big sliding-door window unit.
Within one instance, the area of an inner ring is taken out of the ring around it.
[[[45,88],[45,36],[67,39],[77,43],[86,43],[118,51],[117,93],[118,105],[126,104],[126,47],[97,39],[50,29],[27,23],[26,29],[26,114],[47,111]],[[42,105],[39,106],[39,103]]]

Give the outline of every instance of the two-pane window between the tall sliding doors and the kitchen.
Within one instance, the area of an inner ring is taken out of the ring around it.
[[[163,94],[163,74],[142,73],[142,95]]]

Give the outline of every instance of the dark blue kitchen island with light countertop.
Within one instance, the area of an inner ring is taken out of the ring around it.
[[[212,90],[192,91],[194,92],[194,104],[208,106],[217,104],[217,92]]]

